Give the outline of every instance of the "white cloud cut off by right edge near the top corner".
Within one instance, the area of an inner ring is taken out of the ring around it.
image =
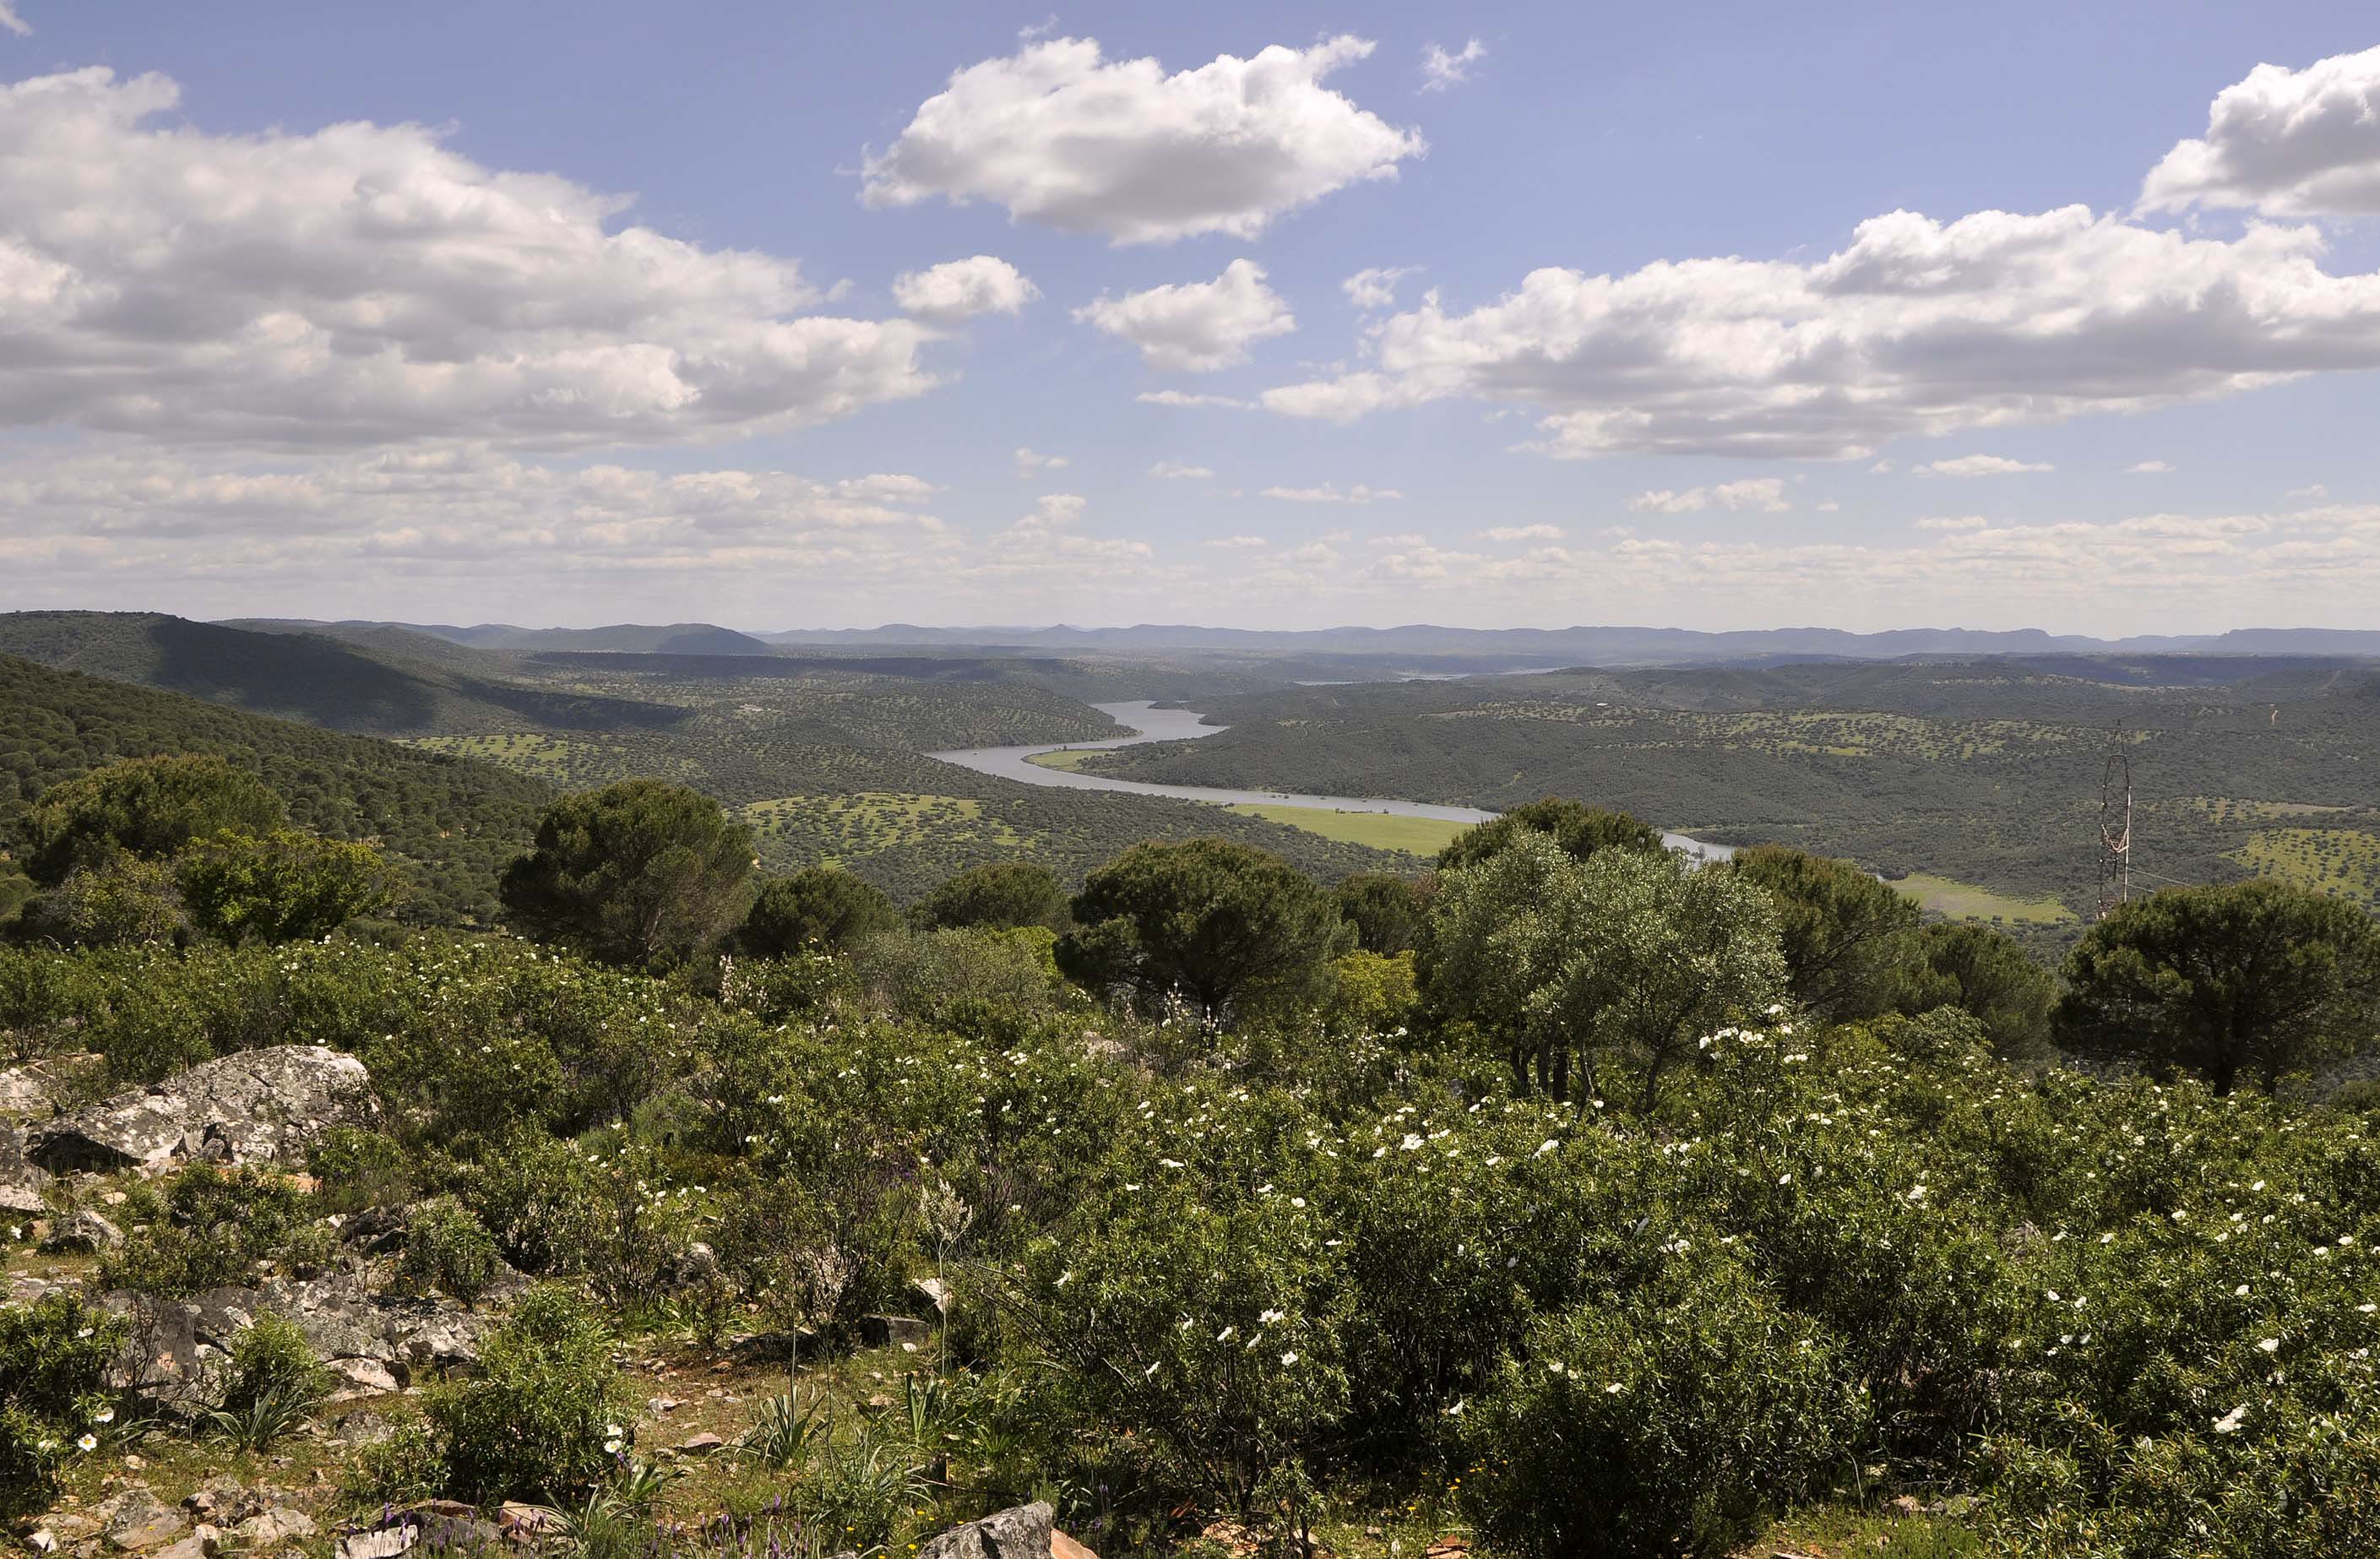
[[[2301,71],[2259,64],[2225,86],[2206,112],[2206,138],[2166,152],[2149,169],[2140,205],[2380,214],[2380,48],[2316,60]]]

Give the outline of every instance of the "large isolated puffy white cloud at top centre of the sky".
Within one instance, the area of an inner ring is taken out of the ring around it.
[[[1349,183],[1395,179],[1426,150],[1418,131],[1321,86],[1371,48],[1273,45],[1166,76],[1157,60],[1102,60],[1092,38],[1033,43],[954,71],[866,157],[862,198],[990,200],[1012,219],[1114,243],[1254,238]]]

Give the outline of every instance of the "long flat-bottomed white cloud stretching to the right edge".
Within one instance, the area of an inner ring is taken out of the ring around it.
[[[1264,405],[1354,421],[1447,397],[1533,405],[1545,455],[1852,457],[1902,436],[2135,412],[2380,367],[2380,276],[2311,228],[2235,240],[2085,207],[1864,221],[1818,262],[1530,271],[1471,312],[1368,331],[1376,367]]]

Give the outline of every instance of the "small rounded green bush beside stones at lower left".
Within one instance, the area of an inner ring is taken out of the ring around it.
[[[612,1335],[588,1302],[559,1285],[521,1297],[488,1340],[481,1373],[431,1388],[424,1402],[443,1492],[478,1504],[569,1504],[624,1450],[628,1404]]]

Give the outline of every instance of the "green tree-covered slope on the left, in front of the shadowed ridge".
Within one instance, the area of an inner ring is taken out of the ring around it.
[[[414,919],[493,919],[497,869],[555,797],[493,764],[0,655],[0,850],[50,785],[164,752],[219,755],[278,790],[305,828],[378,840],[402,874],[400,914]]]

